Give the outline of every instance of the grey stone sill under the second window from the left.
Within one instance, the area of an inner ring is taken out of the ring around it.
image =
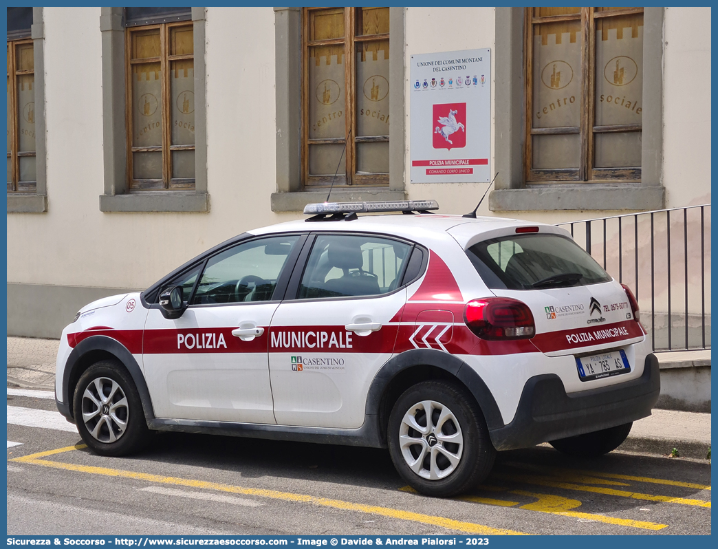
[[[131,193],[100,195],[103,212],[208,212],[208,193]]]

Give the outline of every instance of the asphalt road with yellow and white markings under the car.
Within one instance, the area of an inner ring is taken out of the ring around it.
[[[707,463],[538,446],[500,453],[472,494],[433,499],[371,448],[160,433],[139,456],[96,456],[52,393],[11,392],[9,535],[711,533]]]

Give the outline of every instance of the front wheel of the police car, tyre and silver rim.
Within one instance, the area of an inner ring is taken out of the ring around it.
[[[101,456],[126,456],[149,443],[139,393],[119,361],[99,361],[80,376],[73,412],[80,436]]]

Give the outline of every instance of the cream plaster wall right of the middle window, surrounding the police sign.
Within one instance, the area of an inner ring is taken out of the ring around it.
[[[452,21],[452,32],[436,32],[437,19]],[[474,8],[407,8],[406,60],[411,55],[433,51],[492,48],[491,93],[495,98],[495,9]],[[454,30],[455,29],[455,32]],[[666,8],[663,83],[663,185],[666,187],[666,208],[678,208],[711,201],[711,17],[710,8]],[[467,204],[477,203],[487,185],[476,184],[411,184],[410,109],[411,81],[406,63],[406,190],[409,198],[437,198],[442,212],[464,213]],[[690,75],[690,77],[687,77]],[[491,165],[494,160],[494,135],[491,135]],[[473,206],[471,206],[472,208]],[[563,211],[563,212],[490,212],[488,200],[480,214],[485,216],[518,217],[546,223],[617,215],[626,212]]]

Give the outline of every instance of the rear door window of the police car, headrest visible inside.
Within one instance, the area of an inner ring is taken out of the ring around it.
[[[299,299],[381,295],[396,290],[411,245],[370,235],[317,236]]]

